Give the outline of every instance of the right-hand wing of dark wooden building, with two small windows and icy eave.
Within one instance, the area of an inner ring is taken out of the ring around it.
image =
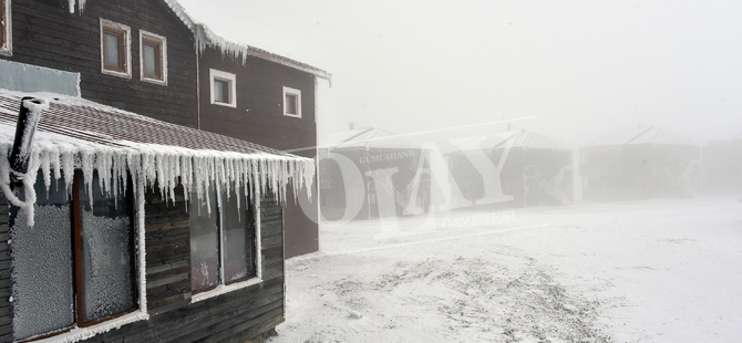
[[[250,45],[229,42],[207,27],[198,40],[200,129],[317,156],[317,84],[330,74]],[[285,209],[288,258],[319,250],[317,183]]]

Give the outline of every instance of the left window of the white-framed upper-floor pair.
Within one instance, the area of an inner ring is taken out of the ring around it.
[[[132,76],[131,29],[101,19],[101,72],[122,77]]]

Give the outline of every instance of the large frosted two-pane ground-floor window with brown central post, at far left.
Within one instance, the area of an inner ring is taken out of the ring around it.
[[[132,187],[114,197],[102,191],[96,172],[92,193],[82,172],[73,177],[71,194],[63,179],[47,191],[39,173],[34,227],[27,226],[23,211],[11,208],[17,341],[91,326],[137,309]]]

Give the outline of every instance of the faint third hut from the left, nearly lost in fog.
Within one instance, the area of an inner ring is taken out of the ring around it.
[[[691,197],[701,190],[701,144],[659,127],[630,127],[580,148],[585,199]]]

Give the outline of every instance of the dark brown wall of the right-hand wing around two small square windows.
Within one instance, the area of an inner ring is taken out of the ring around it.
[[[236,75],[236,108],[210,103],[210,69]],[[243,64],[241,59],[207,49],[199,59],[199,76],[202,129],[280,150],[306,148],[291,152],[303,157],[317,155],[315,75],[254,56]],[[284,86],[301,91],[301,118],[284,115]],[[317,181],[311,194],[317,195]],[[317,199],[311,204],[317,206]],[[317,221],[295,204],[292,195],[284,219],[287,258],[319,250]]]

